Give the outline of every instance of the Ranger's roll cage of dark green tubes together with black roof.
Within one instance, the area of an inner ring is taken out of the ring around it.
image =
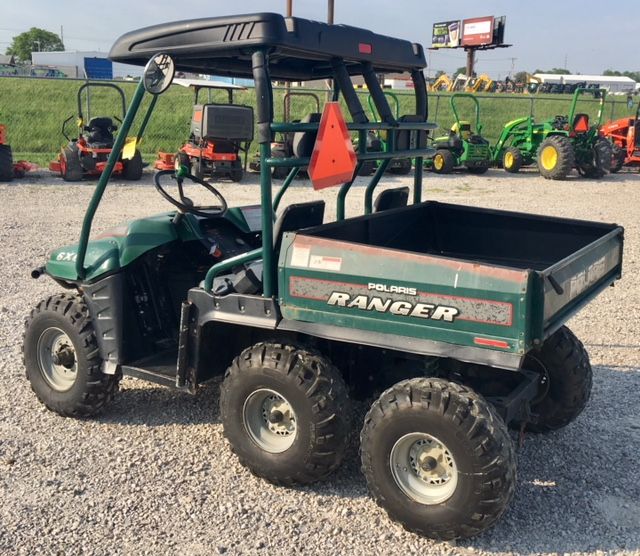
[[[274,122],[272,80],[301,81],[332,79],[332,100],[342,99],[351,122],[347,128],[359,135],[357,166],[353,178],[340,187],[337,219],[345,214],[349,189],[359,166],[368,160],[380,164],[365,189],[365,212],[372,212],[373,192],[393,158],[415,159],[413,202],[421,202],[423,158],[434,150],[426,146],[426,134],[434,129],[427,122],[427,87],[423,69],[426,61],[422,46],[409,41],[372,33],[344,25],[328,25],[301,18],[284,18],[273,13],[206,18],[147,27],[120,37],[111,49],[113,61],[144,65],[157,54],[169,55],[180,71],[234,77],[252,77],[256,90],[256,116],[260,145],[260,190],[262,210],[262,247],[215,264],[208,271],[204,289],[210,293],[214,278],[234,266],[256,259],[263,261],[263,296],[276,295],[276,265],[273,251],[273,206],[271,169],[291,168],[278,192],[277,201],[292,183],[299,169],[310,158],[271,156],[276,133],[317,132],[318,123]],[[415,114],[396,118],[380,86],[380,72],[405,72],[411,75],[415,92]],[[356,93],[350,76],[361,75],[369,89],[379,122],[371,122]],[[117,136],[107,167],[102,173],[87,209],[76,259],[76,272],[82,280],[87,269],[84,260],[91,224],[109,177],[145,95],[141,80]],[[157,96],[144,116],[138,138],[144,132]],[[369,130],[386,130],[389,146],[385,152],[367,152]]]

